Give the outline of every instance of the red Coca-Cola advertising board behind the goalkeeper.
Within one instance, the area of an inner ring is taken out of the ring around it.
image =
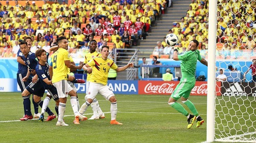
[[[172,95],[179,81],[143,81],[140,80],[139,94],[157,94],[157,95]],[[220,88],[221,82],[216,83],[216,93],[217,96],[221,95]],[[207,95],[207,82],[206,81],[196,81],[195,87],[192,89],[190,95]]]

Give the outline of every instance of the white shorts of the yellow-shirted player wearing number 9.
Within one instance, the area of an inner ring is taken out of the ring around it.
[[[69,92],[73,89],[70,87],[67,80],[60,80],[58,82],[53,83],[54,87],[57,89],[57,93],[59,98],[68,97]]]

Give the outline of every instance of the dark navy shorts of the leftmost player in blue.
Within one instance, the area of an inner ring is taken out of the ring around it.
[[[34,94],[39,97],[43,97],[45,94],[45,88],[40,81],[37,81],[36,83],[30,82],[26,89],[30,94]]]

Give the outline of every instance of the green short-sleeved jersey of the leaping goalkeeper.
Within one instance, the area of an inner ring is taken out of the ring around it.
[[[186,51],[183,54],[178,55],[178,59],[181,61],[180,67],[182,78],[195,77],[197,60],[202,60],[200,51]]]

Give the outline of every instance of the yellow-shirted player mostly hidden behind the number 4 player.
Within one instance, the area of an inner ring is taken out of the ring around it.
[[[90,47],[90,52],[87,53],[86,56],[84,56],[83,64],[89,63],[96,56],[101,56],[101,54],[96,51],[96,48],[97,48],[97,41],[96,40],[90,41],[89,47]],[[89,88],[89,85],[90,85],[91,75],[92,74],[89,74],[89,73],[87,74],[86,95],[88,94],[88,88]],[[103,119],[103,118],[105,118],[105,115],[102,112],[102,110],[101,110],[101,108],[99,106],[99,102],[98,102],[98,100],[96,98],[93,100],[91,106],[92,106],[92,109],[93,109],[93,116],[90,119],[88,119],[88,120]]]

